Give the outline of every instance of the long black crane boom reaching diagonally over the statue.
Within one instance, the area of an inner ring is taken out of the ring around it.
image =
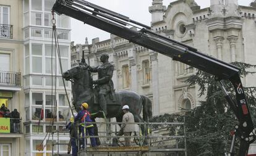
[[[171,57],[173,60],[214,75],[216,80],[220,81],[226,99],[239,120],[239,125],[236,128],[236,136],[240,138],[239,156],[247,155],[249,144],[255,139],[254,136],[250,137],[254,130],[254,124],[250,117],[238,67],[203,54],[194,47],[154,33],[150,30],[151,27],[147,25],[103,7],[96,6],[88,1],[56,0],[53,10],[57,14],[65,14],[88,25],[127,39],[132,43]],[[140,30],[137,31],[128,27],[134,27],[134,25]],[[233,84],[236,91],[236,102],[226,92],[221,80],[229,80]]]

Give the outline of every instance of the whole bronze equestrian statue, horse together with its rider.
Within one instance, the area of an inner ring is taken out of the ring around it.
[[[100,56],[101,65],[90,67],[85,63],[84,54],[79,65],[70,68],[62,74],[62,77],[72,82],[72,96],[75,110],[79,112],[80,104],[87,102],[88,111],[95,118],[116,118],[117,122],[122,122],[122,107],[129,105],[130,112],[134,115],[135,123],[148,122],[152,117],[152,105],[147,96],[140,96],[133,91],[114,91],[113,76],[114,66],[108,62],[108,54]],[[91,72],[98,73],[98,80],[93,80]],[[140,113],[143,112],[143,118]],[[95,125],[95,136],[98,136],[98,129]],[[144,125],[140,125],[142,134],[147,136],[148,132]],[[100,145],[100,139],[96,138]],[[143,144],[147,144],[145,137]]]

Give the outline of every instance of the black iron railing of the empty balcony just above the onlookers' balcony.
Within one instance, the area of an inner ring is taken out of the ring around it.
[[[20,86],[21,73],[20,72],[1,72],[0,71],[0,84]]]

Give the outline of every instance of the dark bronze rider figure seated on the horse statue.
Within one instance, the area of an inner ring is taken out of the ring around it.
[[[106,109],[106,95],[114,91],[114,84],[111,80],[113,76],[114,66],[108,62],[109,55],[106,53],[101,54],[100,61],[103,63],[98,67],[89,67],[90,72],[98,72],[98,80],[93,80],[93,84],[97,84],[99,88],[99,104],[105,115],[107,115]]]

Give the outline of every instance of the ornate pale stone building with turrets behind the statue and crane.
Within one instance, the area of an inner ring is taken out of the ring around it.
[[[211,0],[210,7],[200,9],[193,0],[174,1],[167,7],[162,0],[153,0],[149,7],[151,27],[156,33],[226,62],[256,64],[255,4],[239,6],[237,0]],[[95,38],[92,44],[87,39],[85,44],[71,43],[72,65],[77,65],[82,51],[91,66],[100,64],[100,54],[108,52],[115,65],[116,91],[129,89],[149,96],[153,100],[153,115],[191,109],[203,99],[197,96],[196,85],[184,83],[195,69],[126,39],[111,35],[105,41]],[[250,81],[253,78],[254,75],[244,78],[244,86],[255,85]]]

